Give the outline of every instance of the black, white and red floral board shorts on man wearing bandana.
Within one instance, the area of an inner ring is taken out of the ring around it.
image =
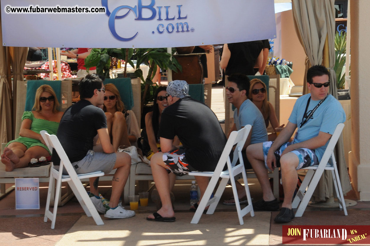
[[[177,176],[184,176],[189,172],[196,171],[185,159],[185,150],[176,149],[163,153],[162,159],[168,169]]]

